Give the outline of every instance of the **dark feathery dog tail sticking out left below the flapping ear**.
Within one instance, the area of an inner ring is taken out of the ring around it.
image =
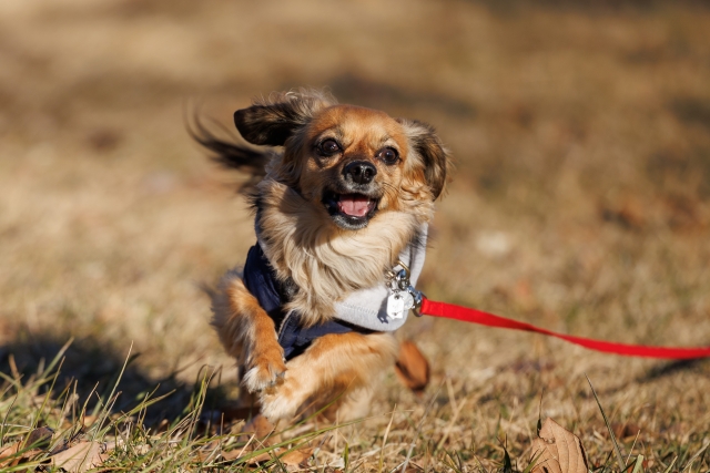
[[[215,127],[221,127],[219,124]],[[240,193],[248,194],[250,191],[266,174],[265,166],[272,157],[271,150],[260,150],[250,145],[241,136],[236,136],[226,130],[224,134],[230,138],[222,138],[210,131],[196,114],[192,123],[186,124],[190,136],[211,152],[210,158],[227,169],[236,169],[246,176],[246,181],[240,183]]]

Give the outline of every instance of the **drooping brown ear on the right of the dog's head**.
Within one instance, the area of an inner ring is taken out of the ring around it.
[[[434,127],[416,120],[397,120],[409,136],[409,143],[424,162],[424,176],[438,198],[446,185],[446,173],[450,167],[449,152],[439,140]]]

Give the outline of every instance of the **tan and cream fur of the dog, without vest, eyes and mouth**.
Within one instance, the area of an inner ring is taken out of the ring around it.
[[[430,220],[446,182],[448,154],[430,126],[338,105],[320,92],[272,95],[237,111],[235,124],[254,145],[283,146],[282,153],[263,153],[265,176],[251,195],[264,254],[277,278],[294,288],[285,309],[307,326],[334,317],[334,302],[352,291],[383,281]],[[317,148],[328,138],[339,145],[335,155]],[[220,153],[220,162],[258,174],[253,148],[199,140]],[[381,158],[383,150],[394,150],[398,160]],[[324,195],[342,185],[345,166],[354,162],[376,169],[367,185],[377,194],[377,210],[357,229],[336,225],[324,206]],[[212,323],[237,359],[242,383],[257,393],[272,421],[334,398],[331,413],[363,415],[376,374],[394,363],[398,350],[390,333],[327,335],[284,363],[273,320],[237,271],[222,279],[213,311]]]

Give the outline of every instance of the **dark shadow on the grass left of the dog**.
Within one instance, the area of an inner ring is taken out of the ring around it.
[[[48,333],[22,332],[16,341],[0,346],[0,371],[10,377],[19,374],[21,383],[27,385],[57,357],[67,341],[65,338]],[[57,398],[65,390],[75,391],[79,397],[77,405],[85,402],[87,412],[91,412],[97,403],[108,400],[115,387],[115,393],[120,395],[111,410],[126,412],[149,394],[151,399],[165,395],[165,399],[148,409],[146,426],[158,425],[164,420],[173,422],[192,409],[191,401],[200,389],[201,380],[189,384],[178,380],[178,373],[163,379],[151,378],[135,363],[140,353],[132,353],[126,363],[128,354],[128,349],[116,349],[103,341],[74,340],[62,356],[52,397]],[[124,363],[126,367],[121,376]],[[57,368],[52,370],[52,373],[55,372]],[[47,393],[50,384],[42,385],[39,393]],[[224,403],[225,395],[220,387],[207,389],[205,410],[216,409]]]

